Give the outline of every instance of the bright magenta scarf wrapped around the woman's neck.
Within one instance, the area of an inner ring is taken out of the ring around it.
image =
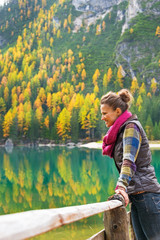
[[[102,153],[103,155],[108,155],[109,157],[113,157],[113,149],[117,139],[117,134],[120,127],[130,118],[132,114],[127,110],[122,113],[114,122],[114,124],[109,128],[107,134],[103,138],[102,144]]]

